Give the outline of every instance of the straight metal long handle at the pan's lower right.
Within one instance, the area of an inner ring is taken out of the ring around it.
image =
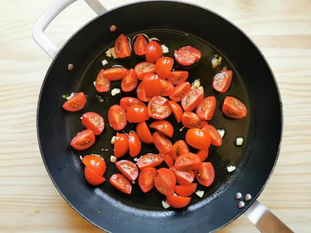
[[[262,203],[255,201],[244,213],[261,233],[294,233]]]

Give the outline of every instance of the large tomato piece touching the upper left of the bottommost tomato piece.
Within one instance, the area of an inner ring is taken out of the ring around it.
[[[172,195],[176,185],[176,178],[173,171],[167,168],[158,169],[158,176],[155,179],[156,189],[164,195]]]

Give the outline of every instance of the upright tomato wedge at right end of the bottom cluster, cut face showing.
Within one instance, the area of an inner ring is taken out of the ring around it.
[[[197,170],[194,170],[197,181],[206,187],[213,183],[215,178],[214,167],[210,162],[202,162]]]

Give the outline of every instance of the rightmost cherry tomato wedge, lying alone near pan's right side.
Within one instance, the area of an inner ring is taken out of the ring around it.
[[[227,96],[225,98],[224,105],[222,106],[222,112],[227,116],[235,119],[246,117],[247,110],[245,105],[238,99]]]

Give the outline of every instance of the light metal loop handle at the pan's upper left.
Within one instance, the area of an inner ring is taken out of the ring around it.
[[[58,0],[49,9],[39,17],[35,25],[32,27],[32,37],[35,42],[47,53],[52,59],[56,56],[59,49],[43,34],[49,23],[66,7],[76,0]],[[99,0],[85,0],[86,3],[95,11],[101,14],[107,9],[99,2]]]

